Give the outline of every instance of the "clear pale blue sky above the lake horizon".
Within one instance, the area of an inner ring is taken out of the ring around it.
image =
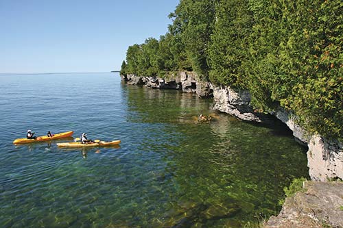
[[[129,45],[167,32],[179,0],[0,0],[0,73],[120,69]]]

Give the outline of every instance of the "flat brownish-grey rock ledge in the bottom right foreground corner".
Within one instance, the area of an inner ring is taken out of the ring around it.
[[[343,227],[343,183],[305,181],[306,192],[297,192],[272,216],[265,228]]]

